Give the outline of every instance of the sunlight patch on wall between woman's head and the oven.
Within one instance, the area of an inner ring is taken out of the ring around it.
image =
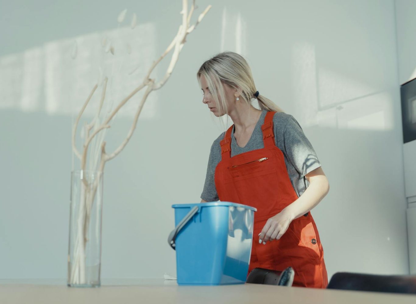
[[[294,102],[302,125],[393,129],[393,101],[387,90],[375,91],[362,81],[319,66],[315,47],[307,42],[293,46],[291,61]]]

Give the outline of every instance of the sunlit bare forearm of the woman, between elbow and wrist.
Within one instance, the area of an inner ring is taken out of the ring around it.
[[[311,181],[305,192],[282,210],[293,221],[312,210],[328,194],[329,183],[325,176]]]

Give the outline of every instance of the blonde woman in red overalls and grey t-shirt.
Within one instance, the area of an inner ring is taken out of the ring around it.
[[[211,146],[201,202],[219,199],[257,208],[249,272],[290,266],[293,286],[325,288],[324,253],[310,210],[329,184],[300,125],[260,95],[239,54],[214,56],[197,78],[203,103],[234,123]],[[251,104],[255,98],[260,110]]]

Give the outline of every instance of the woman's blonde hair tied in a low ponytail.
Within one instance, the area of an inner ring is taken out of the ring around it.
[[[241,94],[240,98],[250,105],[256,97],[254,94],[257,89],[254,84],[250,66],[240,54],[225,51],[213,56],[205,61],[196,74],[201,86],[200,78],[203,75],[208,83],[211,95],[221,112],[228,114],[227,104],[225,103],[225,92],[222,83],[236,88]],[[283,112],[275,103],[265,96],[258,95],[257,101],[260,110],[273,112]]]

